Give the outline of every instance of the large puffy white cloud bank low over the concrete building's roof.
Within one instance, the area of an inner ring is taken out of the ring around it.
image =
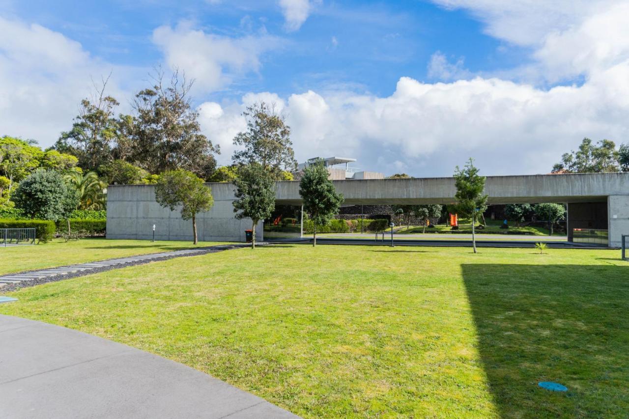
[[[384,98],[292,94],[284,113],[299,160],[342,154],[389,174],[446,176],[471,156],[486,174],[546,173],[586,135],[629,138],[629,64],[548,91],[480,77],[435,84],[402,77]],[[216,123],[233,117],[226,112]]]

